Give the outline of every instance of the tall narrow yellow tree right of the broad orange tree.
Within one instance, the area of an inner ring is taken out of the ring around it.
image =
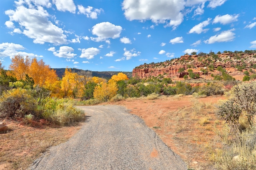
[[[75,75],[71,69],[66,68],[61,81],[62,97],[74,97],[73,90],[76,87]]]

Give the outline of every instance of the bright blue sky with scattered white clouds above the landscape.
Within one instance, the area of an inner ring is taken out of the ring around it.
[[[256,49],[256,0],[0,0],[0,61],[132,71],[200,51]]]

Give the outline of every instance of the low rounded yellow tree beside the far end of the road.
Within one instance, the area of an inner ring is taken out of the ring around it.
[[[115,81],[101,82],[94,88],[93,97],[100,101],[108,101],[116,95],[118,91]]]

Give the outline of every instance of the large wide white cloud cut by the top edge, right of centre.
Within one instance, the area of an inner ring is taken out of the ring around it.
[[[184,0],[124,0],[122,10],[127,20],[152,20],[175,29],[183,21]]]

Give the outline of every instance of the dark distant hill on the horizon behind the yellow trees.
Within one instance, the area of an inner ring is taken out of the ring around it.
[[[56,71],[56,74],[58,75],[59,78],[62,78],[62,76],[65,73],[66,68],[60,68],[60,69],[54,69]],[[72,72],[79,72],[81,69],[76,69],[76,68],[71,68]],[[86,70],[90,71],[90,70]],[[132,77],[132,72],[131,71],[92,71],[92,76],[95,77],[101,77],[104,79],[110,79],[113,75],[117,75],[118,73],[124,73],[126,74],[129,78]]]

